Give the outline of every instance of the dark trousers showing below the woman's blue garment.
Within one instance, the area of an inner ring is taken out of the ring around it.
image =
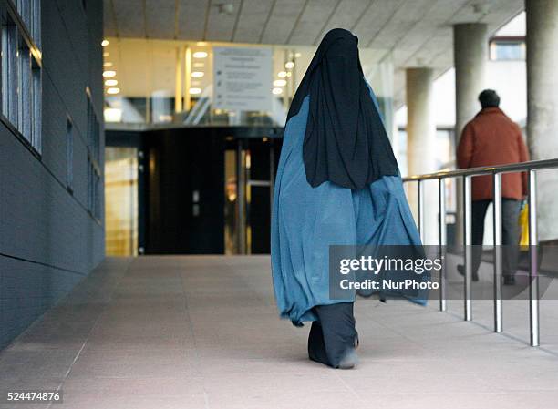
[[[312,322],[308,336],[308,356],[312,361],[334,368],[345,354],[355,347],[357,333],[353,302],[317,305],[314,312],[318,320]]]

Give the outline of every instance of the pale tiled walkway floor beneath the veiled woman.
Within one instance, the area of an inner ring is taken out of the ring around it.
[[[60,388],[53,409],[557,407],[558,354],[435,307],[357,302],[361,363],[336,371],[277,318],[268,257],[109,259],[0,353],[0,389]]]

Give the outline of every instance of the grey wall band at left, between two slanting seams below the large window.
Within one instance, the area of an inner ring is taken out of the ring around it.
[[[7,232],[0,240],[0,253],[88,271],[91,248],[83,241],[89,225],[97,222],[18,140],[6,131],[1,135],[0,161],[10,165],[3,169],[5,183],[16,191],[0,199]],[[87,184],[87,180],[80,182]]]

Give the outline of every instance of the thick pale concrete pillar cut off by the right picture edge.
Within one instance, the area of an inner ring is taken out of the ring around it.
[[[532,159],[558,158],[558,1],[526,0],[527,141]],[[558,239],[558,171],[537,175],[539,240]]]

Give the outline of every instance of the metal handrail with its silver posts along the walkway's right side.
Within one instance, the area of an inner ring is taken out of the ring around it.
[[[412,175],[403,178],[403,182],[418,182],[418,231],[420,238],[424,240],[424,180],[438,179],[439,181],[439,246],[447,244],[446,237],[446,187],[444,179],[461,178],[463,179],[463,245],[465,261],[465,280],[463,283],[464,292],[464,320],[472,320],[472,300],[471,300],[471,179],[480,175],[491,175],[493,182],[493,210],[494,220],[494,332],[502,331],[502,312],[501,312],[501,175],[511,172],[528,173],[528,203],[529,203],[529,322],[531,333],[531,345],[540,344],[539,331],[539,266],[537,259],[537,203],[536,203],[536,171],[541,169],[558,169],[558,158],[532,160],[529,162],[512,163],[508,165],[498,165],[490,167],[442,170],[439,172]],[[446,311],[446,277],[445,270],[442,270],[439,278],[439,310]]]

